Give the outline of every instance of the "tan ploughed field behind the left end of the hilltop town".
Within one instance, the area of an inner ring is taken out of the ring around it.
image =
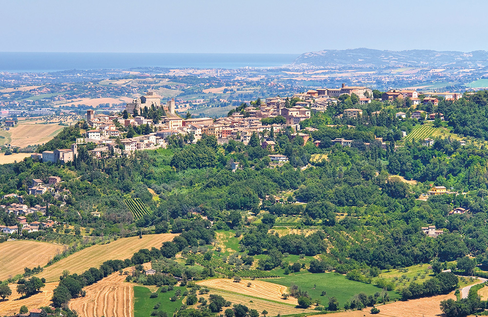
[[[10,144],[25,147],[27,145],[42,144],[54,138],[64,126],[55,124],[19,123],[10,128]]]

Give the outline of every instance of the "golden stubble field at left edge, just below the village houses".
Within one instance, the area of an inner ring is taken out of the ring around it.
[[[0,243],[0,280],[24,273],[24,267],[44,266],[63,249],[63,245],[39,241]]]

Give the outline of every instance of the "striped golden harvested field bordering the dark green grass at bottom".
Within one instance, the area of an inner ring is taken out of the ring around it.
[[[70,300],[69,308],[83,317],[134,316],[134,290],[124,280],[125,275],[117,272],[83,288],[86,296]]]

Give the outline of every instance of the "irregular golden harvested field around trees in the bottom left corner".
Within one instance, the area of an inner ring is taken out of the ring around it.
[[[25,305],[29,310],[39,308],[42,306],[49,306],[51,304],[51,297],[53,291],[58,286],[59,282],[46,283],[46,286],[41,288],[41,292],[34,294],[27,298],[20,299],[20,294],[16,292],[17,284],[10,284],[12,295],[7,300],[0,301],[0,312],[2,315],[12,315],[19,313],[20,307]]]

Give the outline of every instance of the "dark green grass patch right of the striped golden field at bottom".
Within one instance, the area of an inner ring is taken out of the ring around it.
[[[158,297],[149,298],[151,290],[143,286],[134,286],[134,317],[148,317],[154,311],[154,305],[161,303],[159,311],[164,311],[168,316],[173,316],[175,310],[182,305],[183,298],[180,297],[176,301],[171,301],[169,298],[175,296],[175,291],[180,289],[182,293],[185,291],[184,287],[175,286],[172,291],[160,293],[158,290]]]

